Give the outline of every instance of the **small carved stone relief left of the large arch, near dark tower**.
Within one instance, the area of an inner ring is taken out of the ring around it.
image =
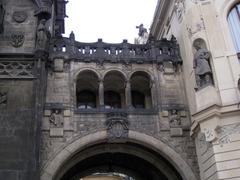
[[[49,122],[51,127],[62,128],[63,127],[63,113],[61,110],[52,110],[49,117]]]

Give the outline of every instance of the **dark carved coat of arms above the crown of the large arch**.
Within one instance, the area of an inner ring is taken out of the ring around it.
[[[117,141],[128,137],[128,125],[126,113],[112,112],[107,114],[107,134],[110,141]]]

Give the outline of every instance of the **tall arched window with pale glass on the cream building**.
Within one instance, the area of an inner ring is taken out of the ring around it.
[[[240,54],[240,3],[235,5],[228,14],[228,24],[231,31],[234,46]]]

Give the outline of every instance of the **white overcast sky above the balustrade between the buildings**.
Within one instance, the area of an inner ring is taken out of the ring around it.
[[[137,25],[150,28],[158,0],[70,0],[66,5],[65,35],[80,42],[134,42]],[[148,30],[149,32],[149,30]]]

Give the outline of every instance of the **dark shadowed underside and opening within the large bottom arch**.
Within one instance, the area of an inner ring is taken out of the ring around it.
[[[99,174],[121,174],[128,180],[182,180],[158,153],[130,142],[88,147],[68,159],[54,180],[84,180]]]

